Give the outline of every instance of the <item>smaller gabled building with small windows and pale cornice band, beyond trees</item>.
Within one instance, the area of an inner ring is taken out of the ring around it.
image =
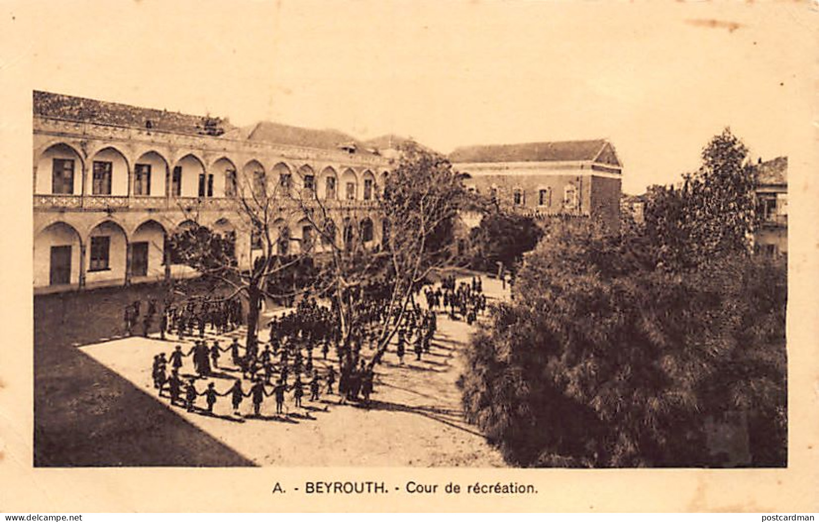
[[[622,164],[605,140],[467,146],[450,155],[468,187],[533,218],[599,219],[616,230]]]

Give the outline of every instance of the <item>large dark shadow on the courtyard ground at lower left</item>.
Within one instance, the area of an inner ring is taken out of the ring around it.
[[[75,348],[121,335],[124,304],[146,295],[34,299],[34,466],[255,466]]]

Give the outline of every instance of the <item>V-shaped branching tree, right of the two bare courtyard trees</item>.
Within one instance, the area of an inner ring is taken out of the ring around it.
[[[369,203],[339,204],[320,198],[309,183],[305,187],[304,179],[298,182],[289,197],[317,236],[311,250],[305,250],[321,260],[312,290],[333,303],[348,364],[358,363],[349,341],[363,326],[362,299],[374,293],[385,304],[385,313],[374,325],[378,345],[369,361],[373,367],[430,272],[458,261],[453,239],[459,209],[467,198],[462,178],[445,157],[408,143],[402,146],[400,161],[385,186],[373,187]],[[341,219],[341,227],[336,218]],[[378,221],[380,242],[375,235]]]

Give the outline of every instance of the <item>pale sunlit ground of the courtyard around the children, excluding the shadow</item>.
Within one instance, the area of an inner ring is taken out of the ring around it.
[[[484,282],[487,295],[502,295],[499,283],[486,278]],[[464,421],[460,407],[455,381],[471,330],[465,322],[440,314],[432,353],[422,361],[415,361],[408,350],[405,364],[399,365],[395,353],[388,353],[377,368],[376,393],[369,408],[340,405],[337,395],[323,395],[319,403],[310,403],[305,396],[306,408],[296,411],[288,394],[289,415],[275,416],[274,401],[268,398],[262,418],[232,416],[228,397],[219,398],[215,416],[171,408],[168,398],[156,397],[151,361],[155,353],[170,353],[173,341],[132,337],[81,350],[143,390],[160,407],[170,408],[175,416],[259,466],[504,466],[500,454]],[[217,338],[228,344],[225,337],[209,336],[209,340]],[[223,362],[229,364],[228,359]],[[191,372],[189,360],[186,365],[183,373]],[[325,366],[324,361],[316,361],[319,370]],[[224,391],[236,375],[229,367],[212,380]],[[197,380],[197,389],[205,388],[206,382]],[[199,400],[203,405],[203,398]],[[246,399],[242,413],[250,409]]]

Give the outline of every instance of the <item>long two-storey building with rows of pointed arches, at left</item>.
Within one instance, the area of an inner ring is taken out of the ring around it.
[[[34,291],[192,275],[165,245],[194,221],[232,233],[249,266],[257,245],[237,209],[248,182],[271,191],[292,182],[337,230],[360,220],[366,240],[380,241],[375,199],[390,160],[346,138],[34,92]],[[286,200],[277,210],[274,226],[299,248],[310,223]]]

